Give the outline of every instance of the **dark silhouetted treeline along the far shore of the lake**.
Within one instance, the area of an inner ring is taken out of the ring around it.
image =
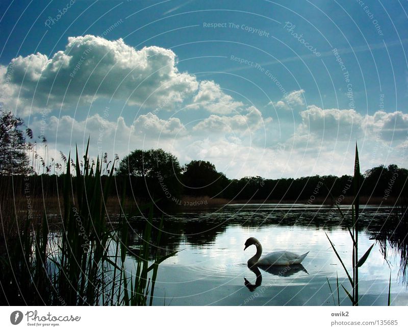
[[[83,171],[83,169],[81,169]],[[61,193],[61,175],[30,175],[0,177],[3,194],[49,197]],[[69,174],[70,176],[70,174]],[[108,173],[101,176],[101,185]],[[396,165],[379,165],[361,175],[360,196],[376,197],[377,202],[392,202],[408,197],[408,170]],[[352,177],[308,176],[298,179],[264,179],[260,176],[228,179],[207,161],[191,161],[181,166],[177,158],[162,149],[135,150],[116,167],[115,185],[110,194],[134,197],[138,200],[160,200],[160,203],[180,203],[183,197],[222,198],[227,200],[274,200],[305,203],[346,203],[352,196]],[[70,190],[76,190],[71,181]],[[7,193],[9,192],[9,193]]]

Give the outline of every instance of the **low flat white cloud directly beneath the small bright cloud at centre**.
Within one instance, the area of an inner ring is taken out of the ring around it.
[[[271,120],[272,118],[269,117],[265,121],[270,122]],[[260,129],[263,124],[262,113],[256,107],[251,106],[247,108],[245,115],[210,115],[210,117],[195,125],[193,130],[206,132],[256,131]]]

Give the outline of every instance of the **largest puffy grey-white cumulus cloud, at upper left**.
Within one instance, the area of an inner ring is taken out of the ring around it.
[[[14,97],[19,93],[20,103],[36,107],[83,104],[100,97],[153,107],[167,99],[182,101],[198,88],[194,75],[179,72],[170,49],[136,50],[122,39],[91,35],[68,38],[65,50],[49,59],[40,53],[19,56],[8,67]]]

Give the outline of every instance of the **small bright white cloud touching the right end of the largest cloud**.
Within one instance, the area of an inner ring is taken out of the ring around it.
[[[214,114],[231,114],[243,104],[235,101],[231,95],[224,93],[221,87],[213,81],[202,81],[197,95],[193,98],[194,104],[190,108],[202,108]]]

